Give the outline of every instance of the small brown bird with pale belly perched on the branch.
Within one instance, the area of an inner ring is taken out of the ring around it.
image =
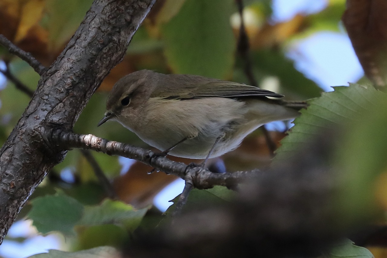
[[[268,122],[293,119],[305,103],[229,81],[142,70],[111,90],[105,117],[120,122],[147,144],[184,158],[213,158],[238,147]]]

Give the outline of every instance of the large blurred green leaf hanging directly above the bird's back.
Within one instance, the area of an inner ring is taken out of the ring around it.
[[[233,0],[186,0],[162,30],[174,73],[225,79],[234,64]]]

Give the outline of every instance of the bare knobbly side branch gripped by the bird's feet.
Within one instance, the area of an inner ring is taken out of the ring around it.
[[[203,167],[190,167],[182,162],[175,162],[168,158],[154,155],[150,150],[137,148],[129,144],[109,141],[92,134],[75,134],[66,129],[54,129],[47,131],[47,141],[57,146],[52,148],[82,148],[107,153],[108,155],[119,155],[126,158],[138,160],[151,165],[157,170],[168,174],[176,175],[199,189],[207,189],[218,186],[233,187],[240,182],[257,176],[257,172],[234,172],[234,173],[213,173]]]

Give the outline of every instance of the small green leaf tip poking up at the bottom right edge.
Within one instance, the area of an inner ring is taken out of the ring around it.
[[[323,255],[324,258],[374,258],[372,253],[361,246],[356,246],[354,243],[345,239],[342,243],[337,244],[329,253]]]

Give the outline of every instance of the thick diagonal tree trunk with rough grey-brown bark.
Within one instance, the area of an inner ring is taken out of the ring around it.
[[[26,111],[0,150],[0,243],[35,187],[66,151],[45,138],[72,129],[156,0],[96,0],[68,45],[43,73]]]

